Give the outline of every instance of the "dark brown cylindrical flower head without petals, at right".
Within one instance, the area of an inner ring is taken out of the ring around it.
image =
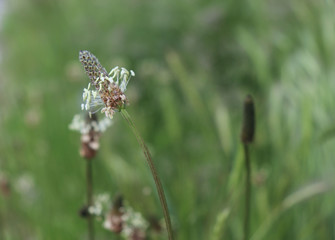
[[[245,98],[243,111],[241,141],[244,144],[248,144],[254,140],[255,135],[255,107],[251,95]]]

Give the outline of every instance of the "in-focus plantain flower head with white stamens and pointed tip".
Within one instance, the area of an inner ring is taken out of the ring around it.
[[[79,61],[90,78],[88,87],[84,88],[82,110],[91,114],[101,109],[106,117],[112,119],[115,111],[120,111],[127,105],[124,92],[135,73],[120,67],[115,67],[107,73],[99,60],[86,50],[79,52]],[[95,90],[91,89],[92,85]]]

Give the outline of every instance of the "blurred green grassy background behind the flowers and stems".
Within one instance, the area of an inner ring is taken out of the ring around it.
[[[335,239],[335,2],[0,1],[0,239],[85,239],[79,50],[126,92],[177,239],[241,239],[243,100],[252,94],[252,239]],[[102,114],[99,117],[103,117]],[[94,159],[94,193],[162,211],[120,115]],[[119,239],[96,222],[97,239]],[[166,239],[166,236],[158,236]],[[155,239],[155,238],[151,238]]]

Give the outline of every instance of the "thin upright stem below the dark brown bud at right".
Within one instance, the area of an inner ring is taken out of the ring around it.
[[[249,148],[245,143],[244,147],[244,156],[245,156],[245,215],[244,215],[244,240],[247,240],[249,237],[249,225],[250,225],[250,197],[251,197],[251,168],[250,168],[250,157],[249,157]]]

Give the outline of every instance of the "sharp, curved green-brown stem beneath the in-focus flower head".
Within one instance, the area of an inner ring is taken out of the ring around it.
[[[144,153],[144,156],[145,156],[145,158],[147,160],[147,163],[149,165],[151,174],[152,174],[152,176],[154,178],[154,181],[155,181],[155,184],[156,184],[156,188],[157,188],[157,192],[158,192],[158,196],[159,196],[159,200],[160,200],[162,208],[163,208],[163,213],[164,213],[164,218],[165,218],[165,223],[166,223],[166,228],[167,228],[169,240],[173,240],[173,233],[172,233],[170,214],[169,214],[169,210],[168,210],[168,207],[167,207],[167,204],[166,204],[164,190],[163,190],[161,181],[160,181],[160,179],[158,177],[158,174],[157,174],[156,168],[154,166],[154,163],[152,161],[149,149],[146,146],[146,144],[144,143],[141,135],[139,134],[137,128],[135,127],[135,124],[132,121],[132,119],[130,118],[130,115],[128,114],[128,112],[125,109],[122,109],[121,110],[121,115],[127,121],[127,123],[129,124],[129,126],[132,129],[134,135],[136,136],[136,139],[137,139],[138,143],[140,144],[140,146],[141,146],[141,148],[143,150],[143,153]]]

